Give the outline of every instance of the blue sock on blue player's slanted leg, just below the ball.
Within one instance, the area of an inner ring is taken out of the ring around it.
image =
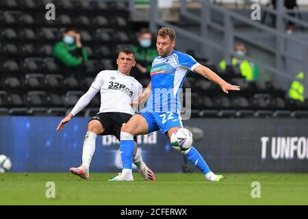
[[[182,153],[186,155],[186,158],[190,161],[191,164],[196,166],[196,168],[201,170],[205,175],[211,172],[209,166],[207,166],[207,163],[205,163],[205,160],[203,159],[201,154],[198,153],[198,151],[194,148],[194,146],[192,146],[187,151],[183,151]]]

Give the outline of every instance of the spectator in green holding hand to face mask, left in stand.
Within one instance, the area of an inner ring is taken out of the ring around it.
[[[66,29],[62,33],[62,40],[53,47],[53,55],[60,65],[67,67],[66,73],[70,72],[77,77],[81,76],[83,64],[88,60],[86,49],[81,44],[80,34],[73,28]]]

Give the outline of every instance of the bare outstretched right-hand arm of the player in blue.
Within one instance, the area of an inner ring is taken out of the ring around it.
[[[223,92],[226,94],[229,92],[229,90],[241,90],[240,86],[232,85],[230,83],[227,83],[227,81],[224,81],[221,77],[219,77],[216,73],[214,73],[211,69],[199,65],[194,68],[194,72],[202,75],[203,77],[206,77],[207,79],[217,83],[222,88]]]

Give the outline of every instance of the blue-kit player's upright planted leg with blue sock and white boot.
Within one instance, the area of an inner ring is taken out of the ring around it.
[[[158,127],[155,127],[153,123],[155,120],[151,118],[151,114],[147,112],[140,112],[131,117],[131,119],[123,125],[120,133],[120,153],[123,164],[123,170],[121,175],[110,179],[110,181],[122,181],[133,180],[132,175],[132,162],[133,162],[133,152],[135,148],[134,136],[144,135],[151,131],[157,130]]]

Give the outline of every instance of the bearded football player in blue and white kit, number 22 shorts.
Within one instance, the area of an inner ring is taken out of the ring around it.
[[[181,123],[181,102],[179,91],[188,73],[195,73],[217,83],[223,92],[240,90],[223,79],[209,68],[202,66],[194,58],[180,51],[175,51],[175,30],[162,27],[157,34],[157,53],[159,56],[153,60],[151,69],[151,83],[142,94],[142,98],[149,96],[144,110],[123,125],[120,133],[120,151],[123,163],[123,171],[110,181],[133,181],[131,171],[133,157],[133,137],[151,133],[160,129],[168,138],[172,133],[183,127]],[[141,100],[141,99],[140,99]],[[221,181],[222,175],[215,175],[207,166],[203,157],[194,146],[182,152],[196,168],[205,174],[209,181]]]

